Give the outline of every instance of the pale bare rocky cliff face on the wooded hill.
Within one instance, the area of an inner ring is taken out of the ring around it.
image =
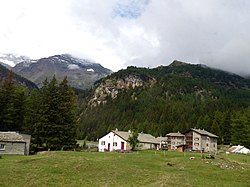
[[[136,75],[128,75],[125,78],[110,78],[106,79],[96,87],[93,97],[89,101],[90,106],[98,106],[101,103],[107,102],[107,97],[112,99],[117,98],[118,93],[128,90],[142,87],[145,84],[153,84],[156,80],[150,79],[149,82],[145,82],[142,78]]]

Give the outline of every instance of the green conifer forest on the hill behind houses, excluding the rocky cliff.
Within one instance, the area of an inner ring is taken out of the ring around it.
[[[196,76],[197,72],[191,70]],[[241,78],[231,77],[228,81],[235,85],[230,87],[223,81],[218,84],[207,81],[208,76],[190,77],[185,71],[181,74],[153,71],[155,75],[146,68],[137,71],[130,67],[109,76],[115,81],[136,72],[146,81],[149,76],[156,77],[157,83],[120,91],[116,99],[107,98],[108,102],[98,107],[91,108],[86,103],[77,137],[96,140],[115,128],[165,136],[196,127],[218,135],[219,143],[250,147],[250,91],[240,88],[245,80],[242,83]],[[219,73],[218,79],[224,80],[225,73]]]

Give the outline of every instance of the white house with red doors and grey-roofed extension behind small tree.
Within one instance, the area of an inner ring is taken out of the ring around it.
[[[99,139],[99,152],[130,150],[130,145],[127,141],[131,134],[130,131],[113,130],[109,132]],[[156,149],[159,146],[159,141],[150,134],[138,133],[138,140],[140,149]]]

